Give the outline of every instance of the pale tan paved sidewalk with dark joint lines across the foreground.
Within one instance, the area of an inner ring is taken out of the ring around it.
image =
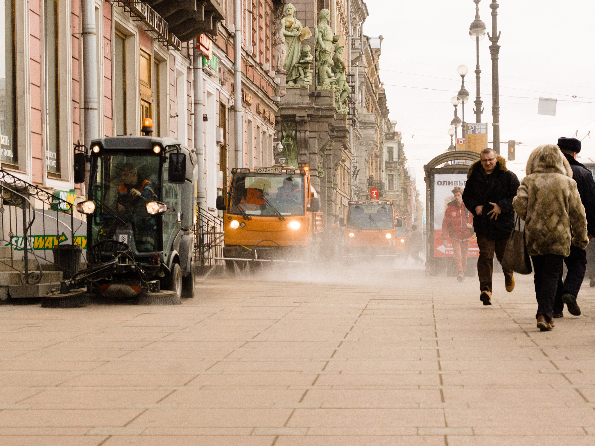
[[[497,276],[496,273],[494,273]],[[369,267],[213,278],[176,307],[0,307],[3,446],[595,444],[595,288]]]

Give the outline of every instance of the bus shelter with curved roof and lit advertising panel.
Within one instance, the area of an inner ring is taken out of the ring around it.
[[[466,150],[446,152],[433,158],[424,166],[427,225],[425,231],[425,267],[430,276],[455,275],[452,245],[447,238],[443,244],[442,221],[449,202],[455,198],[455,186],[465,188],[469,164],[480,159],[480,154]],[[468,163],[467,161],[471,161]],[[446,165],[448,164],[448,165]],[[474,275],[479,248],[477,238],[472,236],[467,253],[466,275]]]

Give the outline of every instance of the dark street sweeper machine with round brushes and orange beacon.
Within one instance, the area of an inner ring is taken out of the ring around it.
[[[74,164],[77,183],[90,166],[77,205],[87,216],[87,268],[48,297],[148,305],[194,297],[195,153],[173,138],[115,136],[94,139]]]

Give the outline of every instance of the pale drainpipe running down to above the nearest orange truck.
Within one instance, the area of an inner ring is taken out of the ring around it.
[[[236,167],[244,167],[243,120],[242,120],[242,0],[234,0],[233,35],[233,113],[234,155]]]

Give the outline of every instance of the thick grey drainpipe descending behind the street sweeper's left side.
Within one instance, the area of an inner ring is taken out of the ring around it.
[[[84,145],[90,149],[91,140],[99,138],[97,111],[97,40],[95,35],[95,2],[82,1],[83,16],[83,83],[84,83]],[[89,188],[89,171],[85,173],[85,190]],[[84,191],[82,191],[84,194]]]

